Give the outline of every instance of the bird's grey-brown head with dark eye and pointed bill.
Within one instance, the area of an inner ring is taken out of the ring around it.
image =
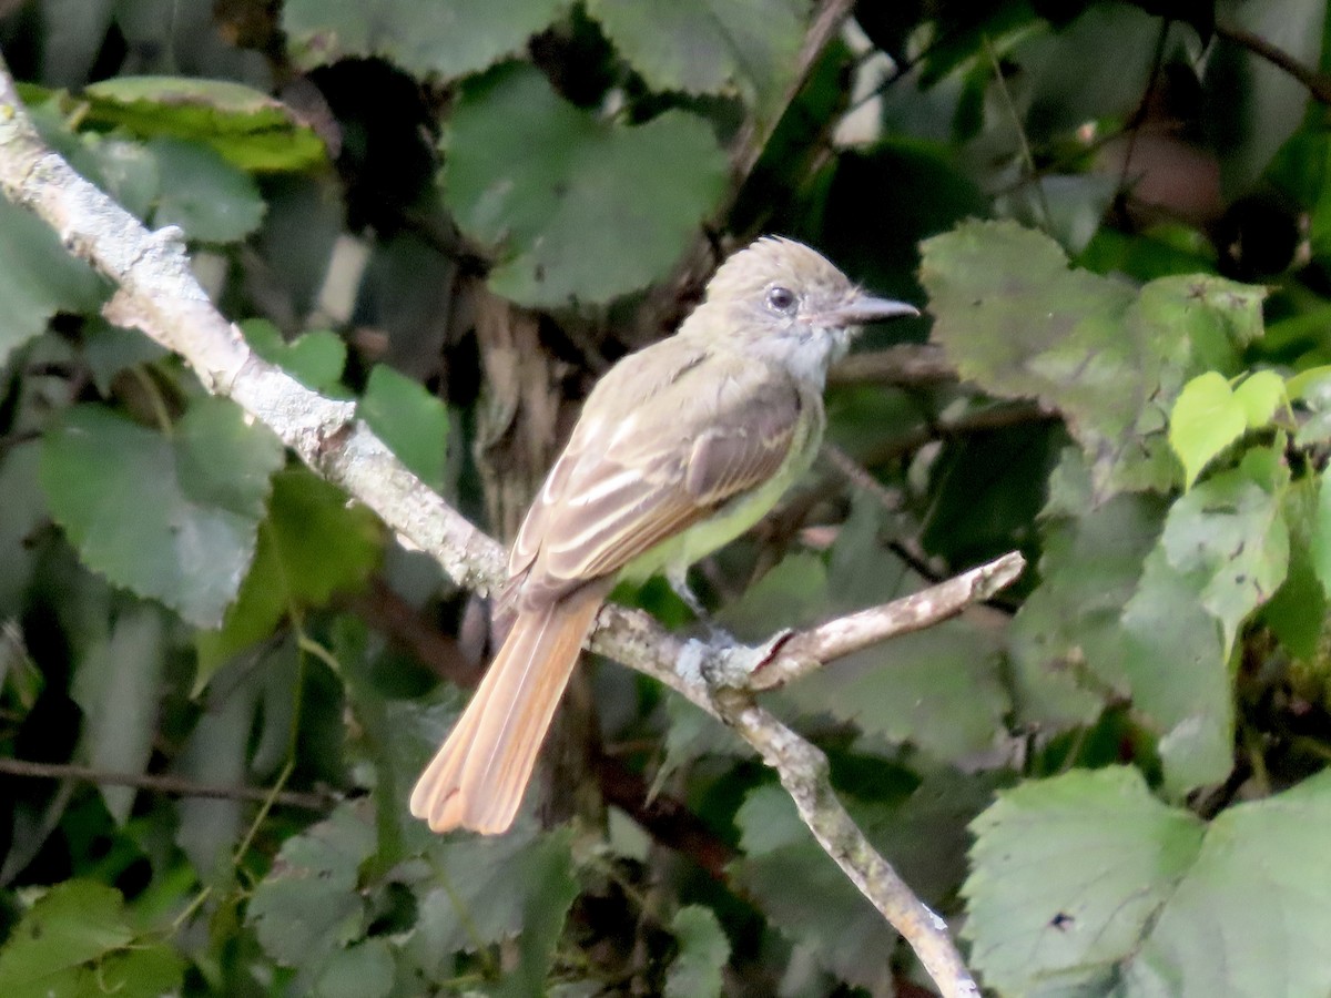
[[[820,253],[775,236],[721,263],[697,311],[713,319],[707,322],[713,331],[720,319],[745,346],[779,351],[787,362],[824,373],[864,323],[920,314],[904,302],[865,294]]]

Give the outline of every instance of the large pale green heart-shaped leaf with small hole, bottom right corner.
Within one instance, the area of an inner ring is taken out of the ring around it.
[[[1025,784],[972,825],[972,961],[1009,994],[1324,994],[1328,818],[1327,773],[1209,825],[1130,769]]]

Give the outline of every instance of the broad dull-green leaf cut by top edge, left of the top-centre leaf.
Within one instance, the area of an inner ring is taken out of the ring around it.
[[[570,0],[289,0],[282,28],[302,69],[377,56],[417,76],[466,76],[516,55]]]

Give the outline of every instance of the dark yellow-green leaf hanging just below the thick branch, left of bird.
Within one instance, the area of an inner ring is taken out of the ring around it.
[[[196,636],[196,693],[232,655],[268,637],[289,613],[365,584],[379,562],[379,522],[303,468],[273,476],[268,519],[236,603],[217,631]]]

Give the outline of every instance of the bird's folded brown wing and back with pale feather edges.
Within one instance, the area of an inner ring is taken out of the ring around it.
[[[634,382],[640,398],[598,386],[623,405],[588,403],[527,514],[510,563],[524,599],[618,572],[789,456],[805,403],[780,369],[729,353],[667,359],[666,377]]]

